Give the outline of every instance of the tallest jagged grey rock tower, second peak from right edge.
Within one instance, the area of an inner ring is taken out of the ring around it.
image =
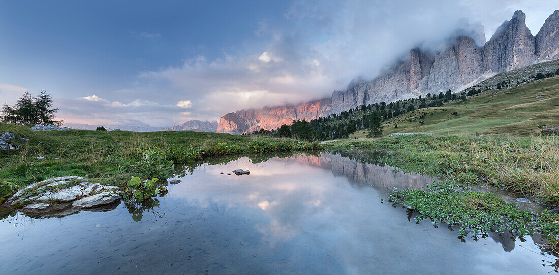
[[[495,73],[510,71],[534,64],[536,46],[534,36],[525,24],[526,15],[516,11],[510,21],[505,21],[485,44],[486,68]]]

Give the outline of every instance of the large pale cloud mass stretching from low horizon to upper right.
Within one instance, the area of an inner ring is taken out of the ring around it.
[[[461,18],[481,21],[489,39],[516,9],[523,9],[535,35],[555,8],[553,1],[528,0],[295,0],[282,11],[283,18],[254,22],[254,37],[231,40],[231,47],[221,52],[200,46],[167,63],[173,65],[157,64],[161,67],[139,72],[119,90],[84,91],[88,96],[65,99],[60,115],[169,125],[329,97],[354,78],[375,77],[413,47],[441,44]],[[162,37],[157,32],[131,33],[145,39]]]

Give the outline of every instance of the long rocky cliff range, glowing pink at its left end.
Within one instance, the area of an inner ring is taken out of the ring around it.
[[[229,113],[220,119],[218,132],[271,130],[293,119],[339,114],[363,104],[395,102],[449,89],[457,92],[488,76],[532,65],[538,56],[559,59],[559,11],[549,16],[535,38],[524,21],[524,13],[515,12],[487,42],[480,24],[463,21],[439,50],[413,49],[371,81],[353,80],[347,89],[334,90],[330,98],[319,100],[320,104],[315,101]]]

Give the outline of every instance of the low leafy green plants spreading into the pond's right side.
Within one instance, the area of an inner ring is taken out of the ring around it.
[[[422,190],[395,189],[390,194],[390,202],[417,213],[414,219],[418,223],[430,219],[435,226],[443,223],[451,229],[457,226],[463,242],[468,235],[477,240],[488,237],[490,232],[510,232],[522,238],[539,231],[552,244],[557,244],[559,236],[556,214],[520,210],[495,194],[466,191],[452,181],[437,182]]]

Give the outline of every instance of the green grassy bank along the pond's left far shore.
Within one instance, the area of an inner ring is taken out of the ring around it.
[[[293,139],[254,138],[221,133],[127,131],[31,131],[0,123],[0,133],[16,134],[22,147],[0,151],[0,178],[17,186],[58,176],[82,176],[125,185],[131,176],[168,175],[168,163],[181,164],[209,156],[313,149],[317,144]],[[20,138],[29,138],[29,142]],[[318,148],[318,147],[317,147]],[[46,160],[37,160],[45,157]],[[163,158],[163,159],[162,159]]]

